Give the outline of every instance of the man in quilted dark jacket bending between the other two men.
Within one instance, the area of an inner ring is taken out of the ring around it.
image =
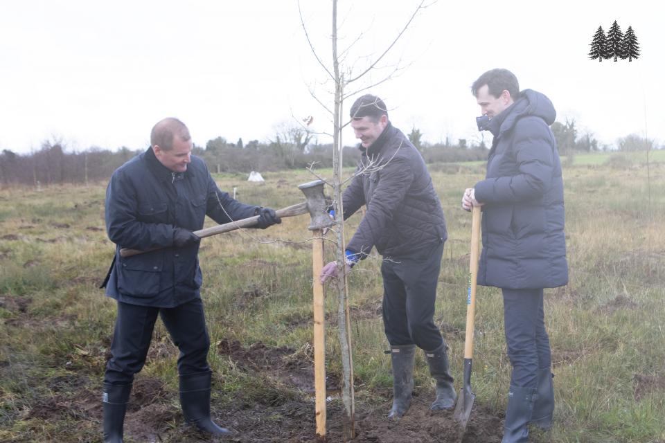
[[[351,107],[351,126],[360,138],[362,158],[344,191],[344,219],[362,205],[366,213],[346,246],[347,266],[364,260],[375,247],[384,260],[383,322],[391,347],[393,406],[399,419],[411,404],[416,346],[425,351],[436,379],[432,409],[454,406],[455,391],[447,345],[434,325],[436,282],[447,237],[441,202],[423,157],[393,127],[383,100],[365,95]],[[326,264],[321,281],[337,275]]]

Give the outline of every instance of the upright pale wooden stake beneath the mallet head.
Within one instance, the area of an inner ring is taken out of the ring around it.
[[[312,240],[312,289],[314,292],[314,391],[317,416],[317,437],[326,438],[326,310],[323,284],[319,280],[323,269],[323,233],[314,230]]]

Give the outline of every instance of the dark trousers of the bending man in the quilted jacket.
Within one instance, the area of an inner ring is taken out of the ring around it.
[[[383,260],[383,325],[392,346],[434,351],[443,344],[434,325],[436,282],[443,242],[407,257]]]

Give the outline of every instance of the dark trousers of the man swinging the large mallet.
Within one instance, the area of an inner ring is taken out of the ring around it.
[[[161,316],[173,343],[180,350],[178,373],[186,375],[210,370],[210,338],[200,298],[172,308],[118,302],[118,317],[111,343],[112,356],[106,366],[105,383],[132,383],[134,374],[141,371],[145,363],[157,314]]]

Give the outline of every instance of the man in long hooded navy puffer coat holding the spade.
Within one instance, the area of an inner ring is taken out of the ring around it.
[[[563,181],[549,129],[556,111],[542,93],[519,92],[506,69],[472,86],[493,136],[486,179],[465,190],[462,206],[483,207],[478,283],[502,289],[508,358],[513,372],[502,443],[529,441],[528,424],[551,426],[551,350],[544,327],[543,288],[568,282]]]

